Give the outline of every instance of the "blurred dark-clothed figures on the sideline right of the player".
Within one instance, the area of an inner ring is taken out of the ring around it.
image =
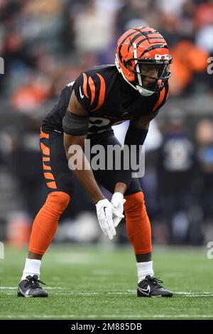
[[[212,119],[194,117],[192,122],[182,114],[158,131],[161,139],[146,151],[141,178],[153,237],[158,243],[202,244],[213,236]]]

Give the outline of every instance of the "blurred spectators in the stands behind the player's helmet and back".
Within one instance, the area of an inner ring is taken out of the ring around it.
[[[36,112],[85,68],[114,63],[117,38],[143,25],[170,46],[171,95],[211,94],[212,0],[1,0],[1,96],[14,109]]]

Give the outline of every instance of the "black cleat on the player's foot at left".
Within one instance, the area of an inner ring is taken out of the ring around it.
[[[41,288],[39,283],[45,284],[39,281],[38,275],[26,276],[26,279],[18,284],[18,297],[48,297],[48,292]]]

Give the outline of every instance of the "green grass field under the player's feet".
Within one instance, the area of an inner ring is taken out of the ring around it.
[[[213,319],[213,259],[206,249],[155,248],[155,276],[173,298],[137,298],[131,248],[52,246],[41,280],[48,298],[17,298],[26,250],[5,249],[1,319]]]

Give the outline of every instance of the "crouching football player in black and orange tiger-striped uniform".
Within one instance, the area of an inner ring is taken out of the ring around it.
[[[48,296],[40,286],[41,259],[55,235],[60,215],[75,196],[74,175],[96,205],[99,225],[109,239],[116,235],[124,210],[127,235],[136,254],[137,295],[173,295],[154,276],[151,225],[140,183],[132,178],[131,168],[71,171],[67,163],[72,156],[70,146],[77,144],[88,165],[84,155],[86,138],[90,139],[91,146],[101,144],[106,151],[107,146],[119,144],[111,126],[126,120],[130,123],[125,144],[143,145],[151,119],[168,99],[170,63],[172,58],[163,36],[153,28],[140,26],[119,38],[115,65],[85,70],[62,90],[40,130],[43,173],[49,193],[33,222],[18,296]],[[98,183],[113,194],[111,202],[104,198]]]

